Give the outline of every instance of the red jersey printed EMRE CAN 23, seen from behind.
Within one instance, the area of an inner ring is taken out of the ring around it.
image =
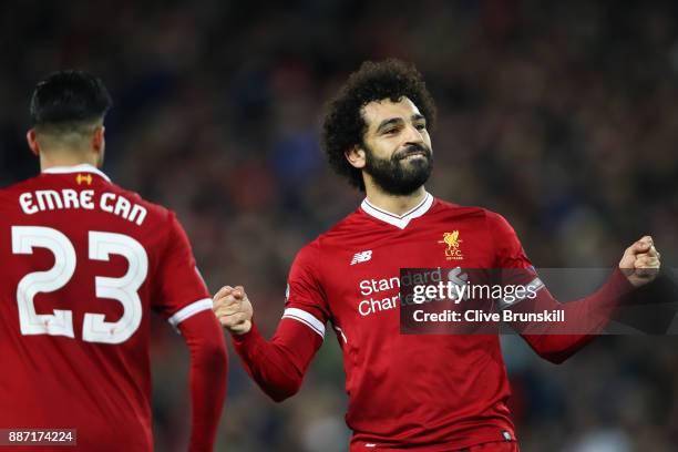
[[[212,308],[175,215],[93,166],[50,168],[0,191],[0,428],[152,450],[150,310]]]

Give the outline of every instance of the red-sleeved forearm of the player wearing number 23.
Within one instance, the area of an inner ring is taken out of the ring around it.
[[[179,325],[191,352],[191,451],[212,451],[226,396],[224,335],[212,312]]]

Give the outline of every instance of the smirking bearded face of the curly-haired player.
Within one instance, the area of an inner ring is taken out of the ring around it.
[[[386,193],[409,195],[431,175],[433,153],[427,120],[408,97],[362,109],[364,172]]]

